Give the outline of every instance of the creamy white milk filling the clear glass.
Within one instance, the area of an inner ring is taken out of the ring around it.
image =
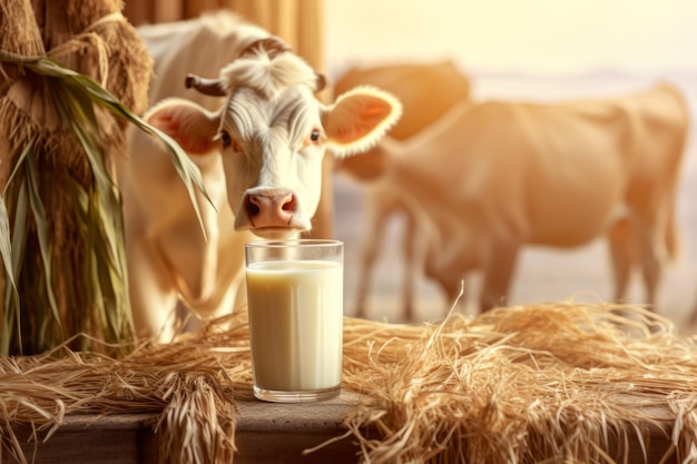
[[[341,384],[343,266],[287,260],[247,266],[254,383],[272,391]]]

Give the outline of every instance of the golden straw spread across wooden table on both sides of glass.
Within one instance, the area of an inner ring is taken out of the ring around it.
[[[229,330],[209,326],[120,359],[65,349],[2,359],[3,450],[17,453],[11,426],[41,441],[68,414],[153,412],[163,461],[230,461],[235,398],[252,384],[246,315],[233,319]],[[621,462],[630,434],[650,452],[651,424],[673,434],[673,457],[695,460],[697,348],[640,307],[567,302],[424,326],[344,323],[343,387],[363,395],[345,417],[356,461],[607,463],[615,443]]]

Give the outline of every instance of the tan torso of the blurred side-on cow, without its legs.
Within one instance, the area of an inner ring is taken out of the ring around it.
[[[461,103],[394,158],[405,188],[467,211],[482,236],[568,247],[606,230],[632,187],[644,201],[675,181],[686,128],[664,85],[616,99]]]

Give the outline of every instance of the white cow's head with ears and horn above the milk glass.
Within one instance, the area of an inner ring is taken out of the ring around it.
[[[321,103],[323,78],[277,39],[252,43],[219,79],[189,76],[187,85],[225,105],[209,112],[169,101],[148,121],[193,156],[219,151],[235,228],[265,238],[311,228],[327,148],[340,157],[363,151],[401,115],[394,97],[370,87]]]

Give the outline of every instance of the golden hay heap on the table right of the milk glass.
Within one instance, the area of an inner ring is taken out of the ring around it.
[[[370,398],[350,428],[389,438],[361,438],[365,460],[612,462],[602,450],[625,443],[627,421],[660,426],[651,407],[666,406],[679,462],[697,426],[694,343],[651,313],[609,308],[504,308],[375,343],[344,382]]]

